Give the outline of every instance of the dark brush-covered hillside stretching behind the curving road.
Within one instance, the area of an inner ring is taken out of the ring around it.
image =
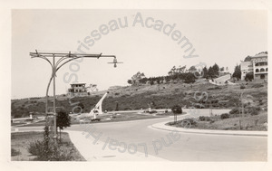
[[[246,88],[240,89],[240,84],[244,84]],[[196,91],[199,91],[199,93],[194,98]],[[102,103],[102,109],[108,111],[115,110],[117,102],[119,110],[147,109],[151,103],[153,103],[153,109],[171,108],[174,105],[182,107],[186,105],[187,108],[194,106],[196,108],[233,109],[240,106],[241,92],[244,92],[244,97],[247,95],[253,97],[253,100],[248,101],[245,107],[267,109],[266,82],[252,81],[240,82],[238,85],[216,86],[208,81],[198,80],[193,84],[177,82],[117,87],[109,90],[109,92],[110,94]],[[208,94],[207,100],[204,92]],[[104,93],[105,91],[98,91],[88,97],[73,98],[72,102],[81,102],[83,112],[90,112]],[[203,95],[202,99],[200,99],[201,93]],[[29,116],[29,112],[43,114],[44,101],[44,98],[12,100],[12,117],[26,117]],[[53,106],[52,97],[50,101],[49,106]],[[56,106],[63,107],[68,112],[78,112],[76,109],[73,110],[74,106],[69,104],[69,98],[65,95],[57,96]]]

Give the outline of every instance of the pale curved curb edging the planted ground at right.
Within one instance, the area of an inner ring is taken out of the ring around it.
[[[263,131],[234,131],[234,130],[213,130],[213,129],[187,129],[187,128],[174,128],[171,126],[166,126],[168,122],[160,122],[151,125],[149,128],[156,128],[166,131],[178,131],[182,133],[189,134],[209,134],[209,135],[228,135],[228,136],[255,136],[255,137],[267,137],[267,132]]]

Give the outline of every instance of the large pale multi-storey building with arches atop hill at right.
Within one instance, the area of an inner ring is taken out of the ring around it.
[[[254,80],[267,80],[267,53],[260,52],[255,56],[248,56],[241,62],[241,80],[244,81],[248,72],[253,72]]]

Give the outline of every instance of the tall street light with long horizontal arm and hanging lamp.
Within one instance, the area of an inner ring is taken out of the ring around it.
[[[46,62],[49,62],[49,64],[52,67],[52,75],[51,78],[47,84],[46,89],[46,97],[45,97],[45,114],[46,114],[46,126],[47,123],[47,115],[48,112],[48,90],[51,84],[51,81],[53,80],[53,138],[56,139],[56,106],[55,106],[55,77],[56,72],[66,63],[72,62],[73,60],[79,59],[79,58],[113,58],[114,67],[116,67],[117,59],[114,55],[102,55],[100,54],[84,54],[84,53],[60,53],[60,52],[30,52],[29,55],[31,58],[41,58],[44,59]],[[50,58],[53,58],[53,62],[49,60]],[[55,58],[59,58],[57,62],[55,62]]]

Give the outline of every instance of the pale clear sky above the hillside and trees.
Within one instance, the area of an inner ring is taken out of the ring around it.
[[[182,46],[182,38],[191,43],[190,48]],[[12,99],[45,96],[51,67],[43,59],[30,57],[29,52],[35,50],[102,52],[123,62],[117,68],[106,58],[67,63],[56,74],[56,94],[66,93],[75,78],[107,90],[128,85],[137,71],[147,77],[162,76],[173,66],[189,69],[199,62],[208,67],[217,63],[233,72],[248,55],[267,51],[267,12],[12,10]],[[196,57],[185,58],[190,52]]]

